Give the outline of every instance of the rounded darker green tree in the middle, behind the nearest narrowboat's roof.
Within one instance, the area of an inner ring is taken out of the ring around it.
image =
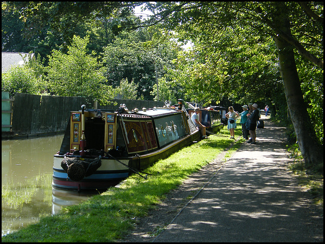
[[[138,86],[137,96],[152,100],[153,86],[157,78],[163,77],[172,65],[176,50],[172,42],[158,43],[156,28],[140,28],[131,33],[122,31],[114,42],[104,48],[103,60],[107,67],[105,76],[114,88],[120,80],[127,78]]]

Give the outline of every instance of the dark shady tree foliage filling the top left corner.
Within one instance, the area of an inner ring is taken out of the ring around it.
[[[127,2],[2,2],[3,52],[35,50],[46,58],[53,49],[67,52],[74,35],[89,35],[88,48],[96,53],[139,18]]]

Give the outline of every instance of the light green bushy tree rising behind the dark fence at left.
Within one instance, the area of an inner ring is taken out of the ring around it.
[[[50,92],[58,96],[80,96],[107,104],[114,97],[106,85],[104,68],[96,57],[87,55],[89,37],[73,37],[68,54],[53,50],[47,69]]]

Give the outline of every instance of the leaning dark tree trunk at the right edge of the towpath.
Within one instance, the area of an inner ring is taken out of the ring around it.
[[[281,31],[290,34],[290,23],[281,9],[277,15],[277,27]],[[274,37],[278,49],[279,68],[282,76],[286,102],[291,121],[297,136],[301,153],[305,159],[306,168],[323,163],[323,148],[319,145],[314,128],[307,112],[300,80],[297,72],[294,47],[278,35]]]

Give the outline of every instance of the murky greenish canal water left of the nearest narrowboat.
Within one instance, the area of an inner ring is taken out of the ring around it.
[[[62,139],[63,135],[54,135],[2,140],[2,235],[94,194],[52,188],[53,155]]]

